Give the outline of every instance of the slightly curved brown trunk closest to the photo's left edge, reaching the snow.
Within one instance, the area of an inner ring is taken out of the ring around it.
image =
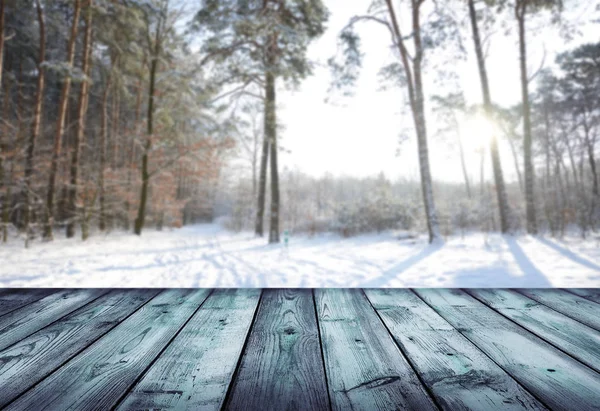
[[[37,61],[38,78],[36,85],[36,95],[33,108],[33,121],[31,124],[31,134],[29,135],[29,143],[27,144],[27,154],[25,157],[25,181],[23,188],[23,204],[24,204],[24,223],[25,233],[29,238],[29,224],[31,220],[30,210],[30,192],[31,192],[31,176],[33,174],[33,158],[35,155],[35,146],[40,134],[40,124],[42,122],[42,105],[44,102],[44,86],[45,86],[45,71],[42,63],[46,59],[46,24],[44,21],[44,12],[40,4],[40,0],[35,2],[38,26],[40,31],[39,55]]]

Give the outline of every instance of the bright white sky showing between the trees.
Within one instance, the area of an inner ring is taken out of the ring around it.
[[[393,60],[389,49],[389,33],[383,26],[365,22],[358,27],[365,53],[362,75],[354,97],[337,97],[335,104],[325,103],[330,83],[326,61],[336,52],[336,37],[341,28],[356,14],[364,14],[369,1],[325,0],[331,16],[326,33],[310,46],[309,56],[321,62],[314,76],[306,79],[298,91],[283,88],[278,93],[279,121],[285,126],[281,145],[291,153],[283,153],[280,167],[298,169],[314,176],[326,172],[334,175],[368,176],[384,172],[389,178],[418,178],[418,160],[414,133],[399,145],[402,124],[412,122],[401,115],[406,104],[404,91],[378,91],[377,72]],[[465,8],[466,12],[466,8]],[[516,27],[516,23],[515,23]],[[596,28],[598,26],[596,25]],[[404,28],[405,32],[408,29]],[[544,30],[543,35],[530,35],[529,70],[537,70],[547,50],[546,65],[552,64],[554,54],[587,41],[597,41],[593,30],[585,30],[582,38],[564,44],[556,29]],[[469,52],[472,40],[465,43]],[[491,37],[487,68],[494,102],[510,106],[520,100],[519,62],[516,36],[497,33]],[[479,76],[472,55],[456,64],[461,84],[469,103],[481,101]],[[426,73],[427,74],[427,73]],[[431,78],[431,77],[430,77]],[[425,79],[427,80],[427,78]],[[425,92],[442,92],[426,84]],[[431,105],[430,105],[431,106]],[[428,117],[429,124],[435,121]],[[436,139],[429,127],[429,148],[434,180],[462,181],[458,150]],[[399,151],[399,155],[397,152]],[[479,157],[473,147],[467,147],[467,161],[472,177],[479,179]],[[508,145],[501,145],[505,176],[516,179],[514,163]],[[486,157],[489,165],[489,158]],[[489,176],[490,171],[486,171]]]

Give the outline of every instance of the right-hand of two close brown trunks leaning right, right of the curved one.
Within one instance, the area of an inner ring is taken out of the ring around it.
[[[93,0],[87,4],[85,17],[85,37],[83,40],[83,63],[81,70],[86,77],[90,75],[90,54],[92,42],[92,6]],[[73,142],[73,153],[71,157],[71,173],[68,197],[69,222],[67,223],[67,238],[75,235],[75,220],[77,219],[77,184],[79,178],[79,158],[83,145],[83,132],[85,131],[85,116],[88,108],[90,83],[85,79],[79,90],[79,105],[77,107],[77,124],[75,125],[75,141]]]

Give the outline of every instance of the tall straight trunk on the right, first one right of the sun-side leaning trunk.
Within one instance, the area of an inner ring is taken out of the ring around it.
[[[517,0],[515,15],[519,26],[519,60],[521,68],[521,98],[523,100],[523,157],[525,169],[525,210],[527,232],[537,234],[535,213],[535,174],[532,159],[531,108],[529,106],[529,79],[527,76],[527,51],[525,47],[526,0]]]

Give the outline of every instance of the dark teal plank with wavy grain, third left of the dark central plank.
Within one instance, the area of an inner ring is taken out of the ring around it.
[[[42,380],[159,290],[114,290],[0,352],[0,408]]]

